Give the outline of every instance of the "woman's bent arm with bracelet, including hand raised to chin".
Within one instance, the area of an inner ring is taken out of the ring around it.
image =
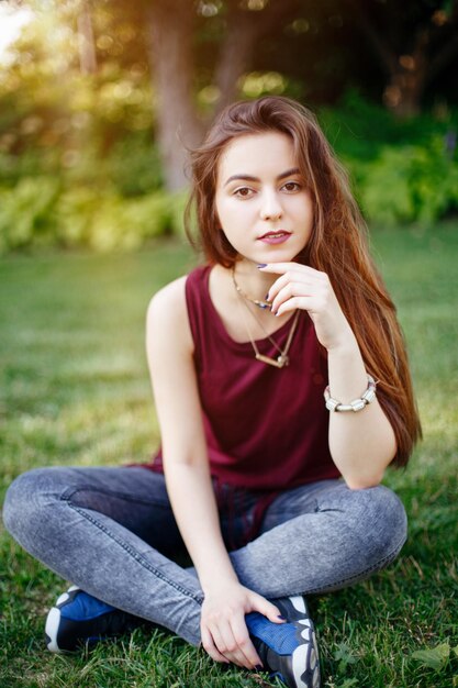
[[[269,292],[272,312],[299,308],[311,317],[327,349],[331,396],[342,403],[359,398],[368,385],[365,364],[327,275],[294,263],[271,264],[262,271],[281,275]],[[329,451],[348,487],[378,485],[395,450],[393,429],[377,398],[356,413],[331,412]]]

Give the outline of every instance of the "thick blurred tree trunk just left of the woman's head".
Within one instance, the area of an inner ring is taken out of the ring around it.
[[[198,145],[203,133],[192,102],[193,2],[156,1],[146,16],[165,184],[178,191],[188,184],[187,148]]]

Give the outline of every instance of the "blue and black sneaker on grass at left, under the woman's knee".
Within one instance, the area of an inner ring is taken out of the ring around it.
[[[51,652],[74,652],[133,631],[145,623],[71,586],[60,595],[46,618],[46,646]]]

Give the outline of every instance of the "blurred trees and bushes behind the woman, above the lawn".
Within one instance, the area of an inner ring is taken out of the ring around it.
[[[235,98],[319,115],[372,225],[458,214],[457,0],[0,0],[0,253],[180,233]]]

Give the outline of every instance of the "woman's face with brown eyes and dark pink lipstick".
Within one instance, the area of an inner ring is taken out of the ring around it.
[[[289,262],[309,242],[312,198],[286,134],[234,138],[220,159],[215,203],[224,234],[248,260]]]

